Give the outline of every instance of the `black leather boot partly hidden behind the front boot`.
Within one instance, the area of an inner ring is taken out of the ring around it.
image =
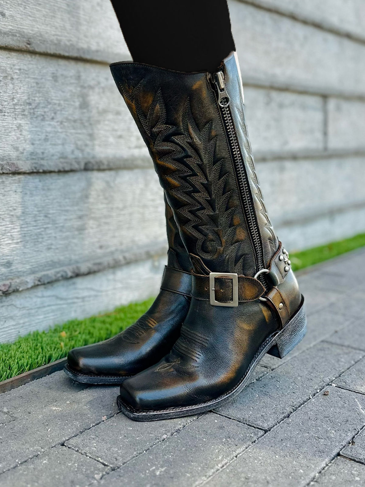
[[[120,384],[157,363],[180,336],[190,305],[191,263],[166,200],[169,244],[160,293],[136,323],[109,340],[74,348],[65,372],[88,384]]]

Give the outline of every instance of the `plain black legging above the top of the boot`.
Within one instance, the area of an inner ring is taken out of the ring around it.
[[[213,72],[235,43],[226,0],[111,0],[135,62]]]

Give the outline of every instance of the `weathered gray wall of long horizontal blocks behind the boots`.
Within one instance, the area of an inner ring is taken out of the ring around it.
[[[365,231],[364,2],[229,7],[279,238]],[[158,290],[162,190],[108,67],[126,59],[109,0],[0,4],[0,342]]]

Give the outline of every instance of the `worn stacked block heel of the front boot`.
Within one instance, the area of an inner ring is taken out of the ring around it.
[[[276,335],[274,345],[267,352],[274,357],[283,358],[300,342],[307,331],[307,318],[303,302],[299,311]]]

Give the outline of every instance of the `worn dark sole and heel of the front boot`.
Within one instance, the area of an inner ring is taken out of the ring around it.
[[[239,394],[247,385],[251,374],[256,365],[265,354],[270,354],[279,358],[286,356],[305,336],[307,331],[307,319],[303,308],[304,298],[298,311],[292,319],[279,332],[275,332],[267,338],[261,347],[258,349],[256,356],[252,360],[246,374],[241,379],[239,384],[231,391],[222,394],[216,399],[212,399],[205,403],[196,404],[193,406],[185,406],[182,408],[168,408],[164,410],[135,410],[128,404],[124,403],[121,396],[117,397],[117,404],[119,410],[123,412],[128,418],[134,421],[158,421],[162,419],[179,418],[183,416],[191,416],[193,414],[201,414],[202,412],[211,411],[217,407],[222,406],[226,402],[233,399]]]

